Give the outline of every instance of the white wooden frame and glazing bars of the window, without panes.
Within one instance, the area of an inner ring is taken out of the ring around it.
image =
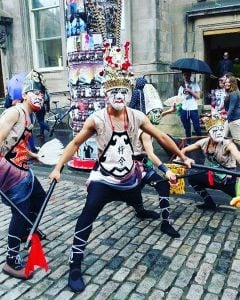
[[[31,33],[31,44],[32,44],[32,55],[33,55],[33,65],[39,71],[42,72],[54,72],[54,71],[62,71],[66,69],[66,33],[65,33],[65,18],[64,18],[64,4],[62,0],[59,0],[59,5],[49,5],[43,8],[32,8],[32,1],[29,1],[29,14],[30,14],[30,33]],[[36,24],[35,24],[35,12],[43,11],[52,8],[58,8],[60,10],[60,36],[56,36],[56,39],[61,40],[62,44],[62,66],[55,66],[55,67],[40,67],[39,66],[39,56],[38,56],[38,41],[47,41],[53,40],[54,38],[44,38],[44,39],[37,39],[36,36]]]

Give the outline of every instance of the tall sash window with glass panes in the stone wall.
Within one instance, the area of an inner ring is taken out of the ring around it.
[[[59,0],[32,0],[31,31],[34,66],[62,69],[64,18]]]

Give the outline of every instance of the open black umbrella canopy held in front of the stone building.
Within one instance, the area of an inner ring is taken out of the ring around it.
[[[194,73],[212,74],[209,65],[196,58],[181,58],[170,65],[173,70],[189,70]]]

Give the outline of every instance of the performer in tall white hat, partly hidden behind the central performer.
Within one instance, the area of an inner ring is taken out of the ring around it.
[[[137,78],[136,86],[139,86],[140,83],[142,84],[143,92],[142,94],[140,91],[135,93],[135,97],[132,97],[129,107],[146,113],[150,122],[157,126],[160,124],[163,116],[175,111],[175,106],[163,112],[160,96],[153,85],[147,83],[143,78]],[[154,153],[152,137],[141,129],[139,129],[138,136],[139,142],[137,143],[135,159],[142,164],[142,188],[148,184],[153,186],[158,193],[162,215],[160,230],[173,238],[179,238],[180,234],[173,228],[169,220],[170,184],[176,183],[176,175]],[[161,172],[160,174],[154,166]]]

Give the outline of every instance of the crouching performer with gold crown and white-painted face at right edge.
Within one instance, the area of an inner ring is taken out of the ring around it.
[[[182,154],[201,149],[205,157],[205,165],[228,170],[235,169],[236,164],[240,163],[240,152],[231,140],[224,139],[224,119],[206,117],[203,121],[209,137],[183,148]],[[188,182],[204,200],[203,204],[197,205],[199,209],[216,209],[216,204],[206,188],[221,190],[235,197],[236,176],[206,171],[190,176]]]

